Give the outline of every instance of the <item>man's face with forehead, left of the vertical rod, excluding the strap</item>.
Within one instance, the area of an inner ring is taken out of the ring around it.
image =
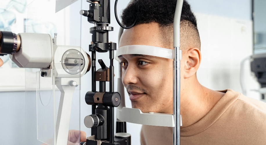
[[[161,42],[157,23],[125,30],[120,45],[147,45],[168,48]],[[173,60],[149,55],[122,55],[122,80],[132,108],[142,112],[172,113]]]

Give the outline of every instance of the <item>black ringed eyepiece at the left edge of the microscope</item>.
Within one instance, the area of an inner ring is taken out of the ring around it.
[[[0,31],[0,54],[8,55],[18,52],[20,44],[19,35],[8,31]]]

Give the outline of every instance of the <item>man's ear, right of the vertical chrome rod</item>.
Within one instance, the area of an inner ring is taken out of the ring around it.
[[[187,51],[185,59],[184,78],[192,77],[196,74],[201,61],[201,53],[199,48],[191,48]]]

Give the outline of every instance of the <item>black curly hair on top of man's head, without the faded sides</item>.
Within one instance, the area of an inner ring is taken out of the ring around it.
[[[136,19],[136,25],[156,22],[159,26],[170,26],[174,23],[177,0],[133,0],[122,11],[121,18],[125,26],[130,26]],[[180,21],[190,21],[197,27],[196,18],[189,3],[184,0]]]

